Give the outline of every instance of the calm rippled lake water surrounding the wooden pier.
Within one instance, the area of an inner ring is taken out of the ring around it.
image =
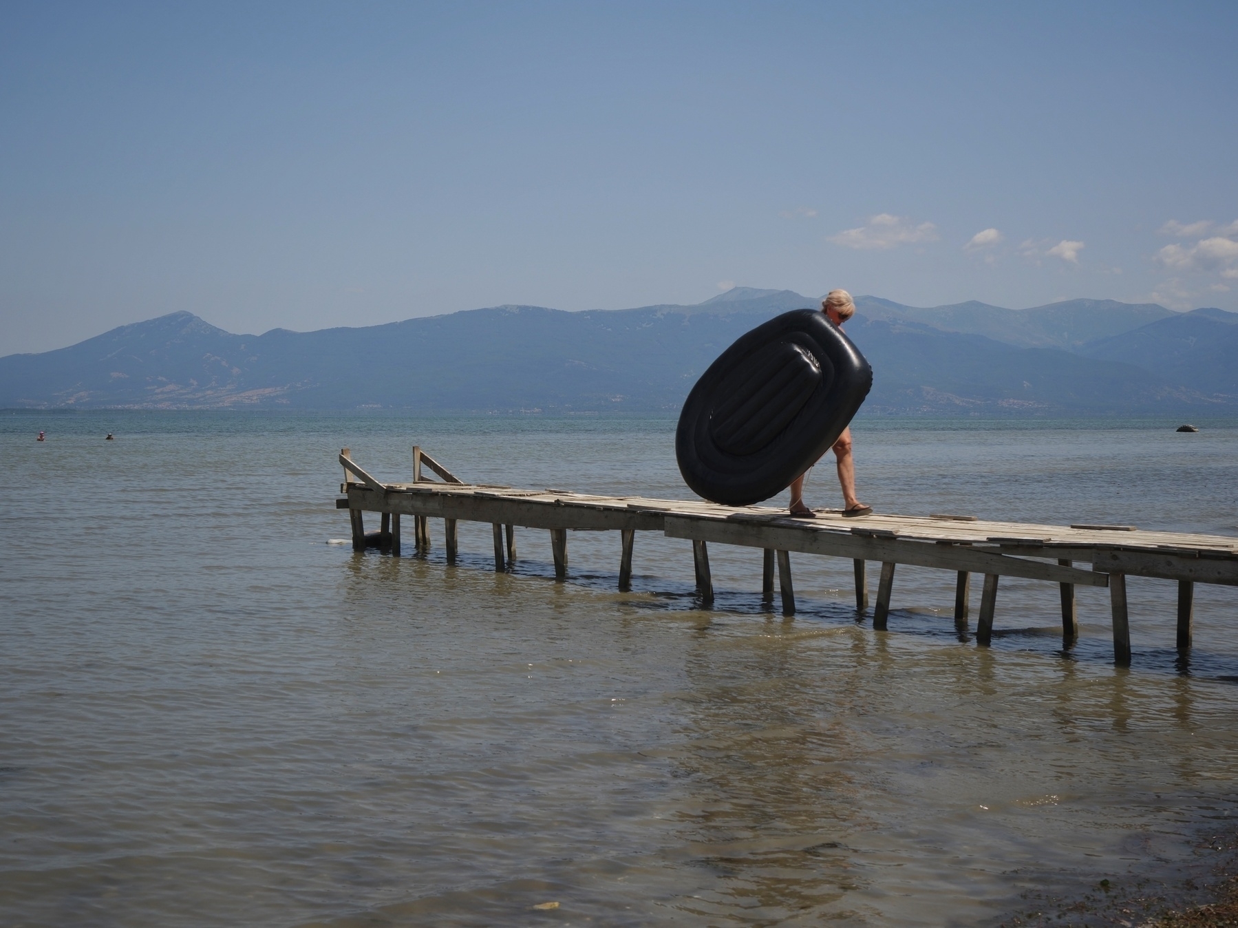
[[[860,497],[1238,534],[1238,424],[1117,426],[868,420]],[[1238,815],[1232,587],[1198,587],[1184,665],[1174,585],[1132,580],[1119,670],[1104,591],[1063,654],[1032,581],[982,649],[927,570],[875,633],[849,561],[792,555],[784,622],[755,551],[711,550],[706,612],[650,534],[626,595],[617,533],[571,534],[566,585],[543,532],[509,575],[489,527],[457,566],[438,522],[427,560],[328,544],[345,445],[389,479],[417,442],[467,479],[686,496],[672,431],[0,416],[0,923],[992,924],[1185,872]],[[837,504],[827,468],[807,496]]]

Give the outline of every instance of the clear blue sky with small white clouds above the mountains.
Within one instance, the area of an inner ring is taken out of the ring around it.
[[[0,5],[0,354],[733,285],[1238,310],[1238,4]]]

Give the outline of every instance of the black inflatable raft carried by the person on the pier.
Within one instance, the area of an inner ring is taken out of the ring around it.
[[[675,457],[706,499],[769,499],[842,435],[873,385],[873,369],[823,312],[792,310],[724,351],[680,413]]]

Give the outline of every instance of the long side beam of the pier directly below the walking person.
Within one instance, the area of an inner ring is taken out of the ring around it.
[[[1003,554],[978,551],[962,545],[937,545],[925,541],[907,541],[901,538],[864,538],[828,532],[803,532],[751,522],[692,519],[670,514],[664,517],[664,532],[669,538],[773,548],[853,560],[890,561],[920,567],[968,570],[974,574],[999,574],[1030,580],[1076,582],[1087,586],[1107,586],[1109,582],[1106,574],[1094,574],[1078,567],[1062,567],[1044,561],[1023,560]]]

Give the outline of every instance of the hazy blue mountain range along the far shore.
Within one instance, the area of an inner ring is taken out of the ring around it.
[[[1238,411],[1238,313],[1070,300],[1028,310],[857,299],[869,413]],[[4,408],[677,411],[735,338],[820,299],[735,287],[693,306],[496,306],[233,335],[188,312],[0,358]]]

